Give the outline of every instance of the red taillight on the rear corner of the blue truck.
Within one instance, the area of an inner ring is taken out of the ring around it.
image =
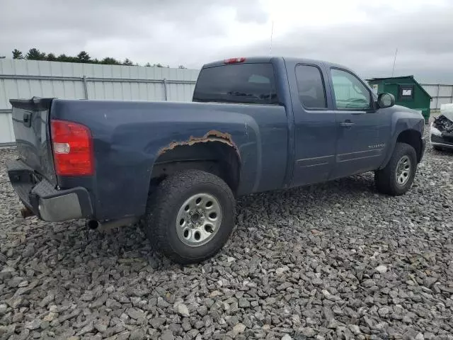
[[[57,175],[93,175],[93,138],[90,129],[66,120],[51,120],[50,127]]]

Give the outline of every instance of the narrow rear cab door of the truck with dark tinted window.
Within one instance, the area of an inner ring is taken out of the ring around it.
[[[323,64],[287,67],[295,137],[291,186],[327,181],[335,164],[337,133],[336,113],[328,108],[328,78]]]

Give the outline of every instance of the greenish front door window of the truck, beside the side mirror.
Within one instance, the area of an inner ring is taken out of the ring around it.
[[[338,109],[370,108],[369,91],[357,77],[341,69],[331,69],[331,76]]]

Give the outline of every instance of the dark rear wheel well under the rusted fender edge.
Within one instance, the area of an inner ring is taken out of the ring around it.
[[[197,169],[219,176],[233,193],[239,186],[241,163],[234,147],[223,142],[200,142],[195,145],[179,145],[163,154],[154,162],[151,186],[178,171]]]

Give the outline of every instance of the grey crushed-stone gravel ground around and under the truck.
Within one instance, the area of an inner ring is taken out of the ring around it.
[[[241,198],[195,266],[136,227],[22,220],[0,150],[0,339],[453,339],[453,153],[411,191],[372,174]]]

